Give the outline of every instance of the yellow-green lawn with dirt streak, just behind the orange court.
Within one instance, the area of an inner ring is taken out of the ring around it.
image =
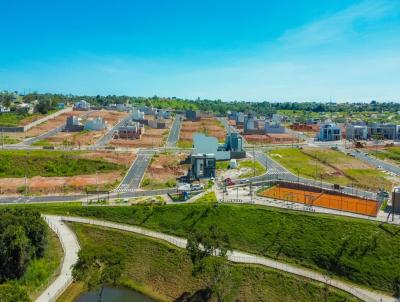
[[[268,154],[293,174],[368,190],[390,190],[386,175],[360,160],[331,149],[282,148]]]

